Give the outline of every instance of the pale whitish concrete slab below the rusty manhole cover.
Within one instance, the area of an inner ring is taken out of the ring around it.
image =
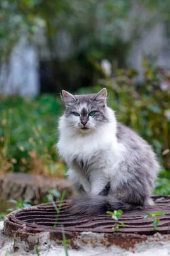
[[[27,253],[22,250],[13,252],[13,240],[9,239],[2,234],[3,221],[0,221],[0,256],[28,256],[32,255],[31,252]],[[36,252],[33,253],[37,255]],[[40,256],[65,256],[63,246],[50,244],[46,250],[39,251]],[[170,256],[170,241],[167,242],[151,242],[142,243],[135,246],[133,250],[125,250],[117,246],[111,246],[110,248],[103,248],[97,246],[92,248],[91,246],[84,246],[81,250],[68,250],[68,256]]]

